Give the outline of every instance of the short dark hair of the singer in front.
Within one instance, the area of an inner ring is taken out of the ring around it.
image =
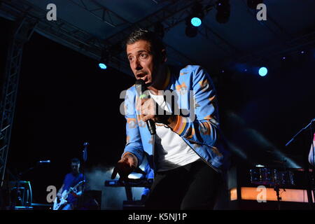
[[[148,41],[151,44],[150,50],[153,55],[158,55],[160,57],[162,50],[165,49],[162,38],[160,38],[158,33],[141,28],[132,31],[132,33],[127,37],[125,45],[127,46],[140,40]]]

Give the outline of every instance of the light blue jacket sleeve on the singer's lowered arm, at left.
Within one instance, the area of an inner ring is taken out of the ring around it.
[[[142,146],[141,136],[139,132],[139,125],[137,122],[136,114],[134,113],[134,95],[132,91],[127,90],[125,96],[125,118],[126,118],[126,146],[125,153],[132,153],[138,159],[138,166],[141,165],[144,159],[144,148]],[[122,157],[123,157],[122,155]]]

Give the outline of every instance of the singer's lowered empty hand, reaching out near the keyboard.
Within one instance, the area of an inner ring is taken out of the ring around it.
[[[126,153],[123,158],[117,162],[116,167],[113,169],[113,174],[111,174],[111,179],[115,179],[116,175],[119,174],[120,180],[126,180],[136,167],[137,158],[135,155]]]

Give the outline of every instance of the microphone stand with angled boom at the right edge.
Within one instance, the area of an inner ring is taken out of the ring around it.
[[[304,132],[305,130],[307,130],[309,127],[310,127],[310,132],[311,132],[311,125],[312,123],[315,121],[315,118],[311,120],[311,122],[306,126],[306,127],[303,127],[299,132],[297,132],[297,134],[295,134],[295,136],[290,139],[290,141],[288,141],[288,143],[286,144],[286,146],[290,145],[293,141],[295,141],[295,139],[297,138],[298,135],[300,135],[302,132]],[[311,133],[312,134],[312,133]],[[307,148],[307,144],[305,142],[305,139],[304,139],[304,148]],[[311,138],[311,142],[313,142],[313,138]],[[314,148],[313,148],[313,151],[314,151]],[[304,156],[303,156],[303,162],[304,162],[304,173],[305,173],[305,177],[307,179],[307,199],[308,199],[308,202],[309,202],[309,208],[310,209],[314,209],[314,202],[313,202],[313,197],[312,197],[312,192],[314,193],[314,176],[315,176],[315,173],[314,173],[314,167],[312,169],[312,174],[313,174],[313,183],[311,181],[311,176],[309,174],[309,161],[308,161],[308,151],[304,151]]]

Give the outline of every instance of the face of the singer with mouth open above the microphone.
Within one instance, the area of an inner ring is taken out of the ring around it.
[[[151,44],[148,41],[140,40],[127,45],[127,57],[134,76],[144,80],[146,85],[152,85],[160,64],[154,58]]]

